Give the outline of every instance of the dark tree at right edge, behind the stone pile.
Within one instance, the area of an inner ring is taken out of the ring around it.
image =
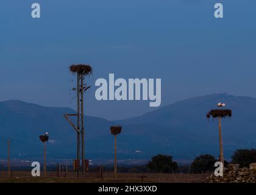
[[[232,163],[239,164],[241,168],[249,167],[251,163],[256,163],[255,149],[238,149],[232,155]]]

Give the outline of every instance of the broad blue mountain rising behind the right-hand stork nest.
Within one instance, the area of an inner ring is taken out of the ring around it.
[[[143,140],[148,143],[140,145],[143,151],[152,149],[179,158],[193,158],[204,153],[218,157],[218,121],[206,118],[206,113],[216,108],[218,102],[225,102],[226,108],[233,112],[230,119],[222,119],[224,155],[229,158],[237,148],[256,147],[255,98],[210,94],[185,99],[119,122],[130,135],[145,136]]]

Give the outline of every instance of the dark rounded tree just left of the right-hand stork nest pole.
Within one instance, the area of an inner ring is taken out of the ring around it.
[[[191,172],[204,173],[215,169],[215,162],[218,161],[210,154],[200,155],[196,157],[191,164]]]

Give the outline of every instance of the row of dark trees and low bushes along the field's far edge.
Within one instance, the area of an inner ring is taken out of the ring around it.
[[[162,172],[162,173],[194,173],[202,174],[214,171],[216,159],[213,155],[204,154],[196,157],[191,165],[178,166],[176,161],[169,155],[158,154],[151,158],[145,166],[118,166],[118,172]],[[256,149],[238,149],[232,155],[230,162],[224,161],[225,166],[229,163],[239,164],[241,168],[249,167],[249,164],[256,163]],[[104,166],[104,171],[113,171],[112,166]]]

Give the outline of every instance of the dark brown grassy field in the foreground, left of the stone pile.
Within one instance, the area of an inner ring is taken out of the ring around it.
[[[85,177],[76,178],[75,172],[68,172],[57,177],[56,172],[48,172],[47,176],[32,177],[30,171],[13,171],[12,177],[8,177],[7,172],[0,172],[1,182],[29,182],[29,183],[84,183],[84,182],[162,182],[162,183],[202,183],[209,174],[161,174],[161,173],[118,173],[117,178],[112,172],[104,172],[103,179],[99,179],[96,172],[87,172]]]

